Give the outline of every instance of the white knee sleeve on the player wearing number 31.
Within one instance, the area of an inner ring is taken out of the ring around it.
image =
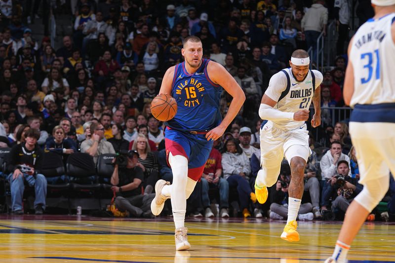
[[[388,176],[364,182],[362,191],[354,199],[367,211],[371,212],[383,199],[390,187]]]

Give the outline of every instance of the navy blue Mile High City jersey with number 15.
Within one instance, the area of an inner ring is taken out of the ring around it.
[[[222,87],[210,80],[207,74],[209,61],[202,59],[194,74],[188,74],[185,62],[175,66],[171,96],[177,102],[177,114],[165,123],[166,126],[181,131],[204,131],[221,123]]]

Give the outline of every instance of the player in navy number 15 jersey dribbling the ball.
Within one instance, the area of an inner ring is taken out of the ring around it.
[[[213,141],[225,132],[245,101],[245,95],[226,69],[213,61],[202,59],[200,38],[185,38],[181,50],[185,62],[169,68],[159,94],[170,94],[177,101],[177,113],[165,123],[166,156],[173,173],[173,184],[159,180],[151,203],[159,215],[164,201],[171,198],[175,224],[176,250],[187,250],[188,228],[184,226],[186,200],[200,179]],[[220,97],[224,88],[234,99],[221,121]]]

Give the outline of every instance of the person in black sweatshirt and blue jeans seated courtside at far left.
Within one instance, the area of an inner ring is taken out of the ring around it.
[[[8,155],[8,171],[12,171],[7,180],[11,188],[11,209],[14,214],[22,215],[25,181],[35,188],[34,208],[36,215],[42,215],[45,209],[47,182],[41,172],[43,151],[37,145],[40,133],[36,129],[26,132],[26,142],[12,147]],[[34,154],[33,154],[34,153]]]

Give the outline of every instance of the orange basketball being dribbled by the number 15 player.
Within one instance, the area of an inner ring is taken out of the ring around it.
[[[160,121],[170,120],[177,113],[177,102],[168,94],[160,94],[151,102],[151,113]]]

